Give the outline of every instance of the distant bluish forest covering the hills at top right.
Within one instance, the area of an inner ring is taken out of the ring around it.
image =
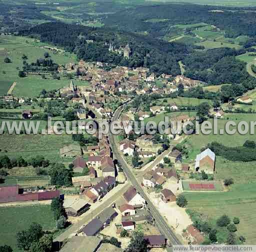
[[[175,29],[171,25],[180,23],[205,22],[225,30],[227,37],[241,34],[255,36],[256,12],[250,9],[226,8],[196,4],[155,4],[136,6],[105,15],[103,22],[110,27],[138,32],[147,31],[153,36],[162,37]],[[132,16],[132,18],[131,18]],[[161,21],[150,21],[162,19]]]

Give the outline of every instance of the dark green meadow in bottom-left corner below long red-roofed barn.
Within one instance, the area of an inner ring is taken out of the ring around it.
[[[55,227],[50,205],[0,207],[0,215],[0,244],[10,245],[14,252],[20,251],[16,246],[16,232],[26,229],[32,222],[41,224],[44,230]]]

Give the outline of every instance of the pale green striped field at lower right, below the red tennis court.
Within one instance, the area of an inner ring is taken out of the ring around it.
[[[230,174],[232,176],[232,174]],[[222,214],[230,218],[238,216],[237,235],[246,238],[245,244],[255,244],[256,183],[233,184],[227,192],[184,192],[188,199],[188,208],[216,219]],[[225,240],[225,237],[223,237]]]

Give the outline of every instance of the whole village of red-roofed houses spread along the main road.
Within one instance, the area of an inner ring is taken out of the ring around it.
[[[115,50],[111,44],[109,50]],[[128,45],[122,50],[128,57]],[[65,106],[61,109],[66,114],[71,111],[68,115],[71,115],[71,120],[76,121],[110,121],[114,110],[123,103],[127,104],[118,119],[124,124],[136,119],[147,120],[167,112],[176,112],[172,117],[173,121],[184,123],[195,119],[193,113],[190,115],[189,112],[182,112],[176,102],[155,100],[167,99],[178,92],[179,88],[189,89],[200,82],[182,75],[173,77],[162,74],[156,77],[144,67],[132,69],[116,66],[106,70],[104,66],[101,62],[84,60],[59,65],[58,73],[73,74],[75,78],[66,80],[66,86],[58,90],[44,90],[37,101],[59,102],[57,104],[63,102]],[[141,106],[132,102],[135,96],[144,96],[148,100],[150,96],[156,98],[146,106]],[[10,94],[2,99],[5,104],[27,104],[28,108],[22,110],[21,114],[15,114],[13,119],[39,118],[38,112],[32,109],[36,99]],[[218,118],[223,115],[221,109],[216,109],[213,113]],[[171,126],[170,124],[169,127]],[[46,127],[45,132],[48,135],[54,134],[52,126]],[[61,135],[58,137],[61,138]],[[67,160],[68,169],[73,174],[68,186],[1,186],[0,203],[50,203],[51,199],[60,198],[67,221],[71,225],[54,239],[61,244],[62,252],[83,251],[81,247],[84,246],[86,252],[123,251],[128,245],[131,232],[136,229],[143,230],[148,249],[165,251],[170,241],[155,224],[147,200],[128,179],[125,167],[118,158],[119,153],[145,195],[150,198],[181,242],[199,244],[204,240],[203,233],[192,225],[189,215],[180,207],[182,203],[178,206],[176,202],[183,191],[214,191],[221,187],[219,181],[191,179],[190,175],[203,171],[205,176],[213,177],[216,171],[214,152],[206,148],[197,153],[192,163],[184,162],[184,150],[180,143],[185,136],[181,131],[167,131],[163,137],[159,137],[154,134],[135,135],[133,129],[128,133],[122,130],[116,136],[115,142],[111,142],[109,135],[98,139],[97,129],[92,137],[93,141],[89,139],[83,144],[73,141],[59,148],[59,157]],[[113,144],[116,144],[117,150],[113,149]],[[68,193],[67,187],[75,188],[75,191]],[[121,242],[120,247],[102,241],[109,237],[116,237]]]

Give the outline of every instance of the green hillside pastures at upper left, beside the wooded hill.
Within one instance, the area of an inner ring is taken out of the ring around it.
[[[68,79],[61,76],[60,80],[53,79],[50,75],[46,75],[47,79],[42,79],[38,75],[28,75],[27,77],[18,77],[18,70],[22,69],[22,55],[25,54],[27,62],[34,62],[37,58],[43,57],[44,52],[49,52],[53,61],[58,64],[75,62],[74,54],[68,52],[53,54],[50,50],[39,48],[45,45],[34,39],[19,36],[0,36],[0,95],[7,92],[13,82],[16,86],[13,94],[18,96],[37,96],[39,92],[45,88],[46,90],[58,89],[68,85]],[[12,62],[4,63],[4,57],[8,56]]]

